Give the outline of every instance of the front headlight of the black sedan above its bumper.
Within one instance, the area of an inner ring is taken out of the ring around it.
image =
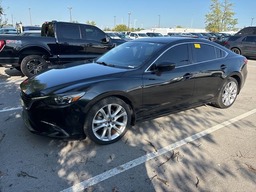
[[[64,94],[51,95],[43,101],[49,105],[68,105],[80,99],[85,93],[86,92],[68,92]]]

